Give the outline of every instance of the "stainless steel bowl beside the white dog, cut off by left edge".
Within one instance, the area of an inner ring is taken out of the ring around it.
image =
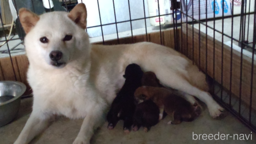
[[[16,81],[0,81],[0,127],[14,120],[26,86]]]

